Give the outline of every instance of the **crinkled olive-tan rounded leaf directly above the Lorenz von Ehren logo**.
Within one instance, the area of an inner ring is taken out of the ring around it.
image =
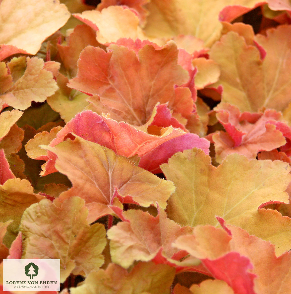
[[[87,223],[84,204],[79,197],[53,203],[44,199],[26,209],[21,219],[23,258],[60,259],[62,282],[70,273],[86,276],[98,270],[106,231],[100,223]]]

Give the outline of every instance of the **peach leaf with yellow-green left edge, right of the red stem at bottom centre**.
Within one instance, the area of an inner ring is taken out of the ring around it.
[[[130,210],[123,212],[125,222],[118,223],[107,231],[113,262],[128,268],[134,260],[152,260],[162,249],[172,258],[178,253],[171,244],[180,235],[192,232],[190,227],[181,228],[169,220],[163,210],[157,217],[149,213]]]

